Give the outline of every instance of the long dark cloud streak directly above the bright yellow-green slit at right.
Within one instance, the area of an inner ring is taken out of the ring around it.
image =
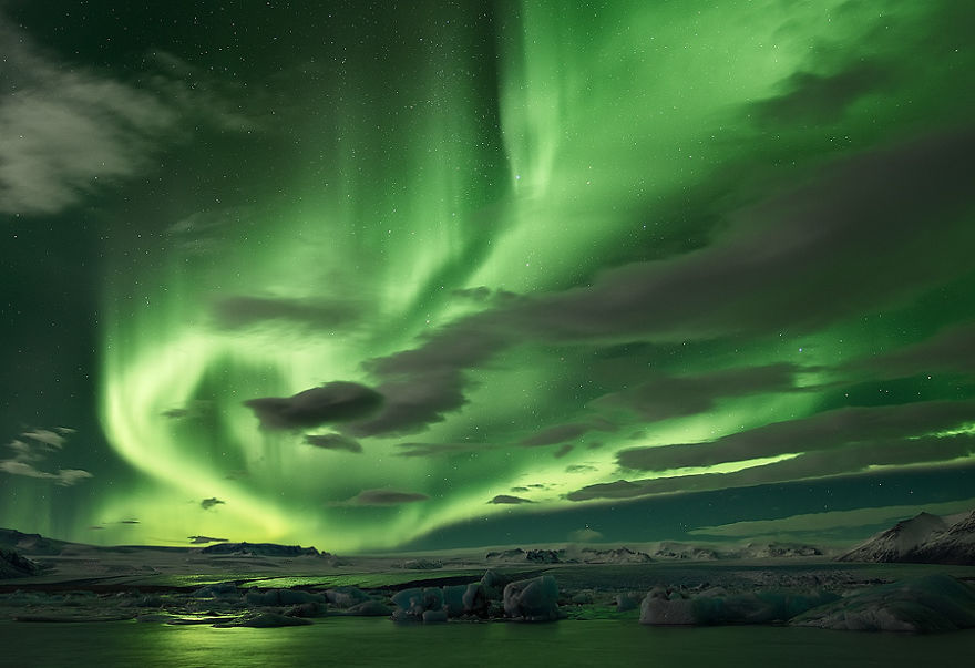
[[[635,448],[616,454],[623,469],[668,471],[727,462],[838,450],[872,441],[916,439],[971,422],[973,401],[844,408],[801,420],[776,422],[707,443]]]

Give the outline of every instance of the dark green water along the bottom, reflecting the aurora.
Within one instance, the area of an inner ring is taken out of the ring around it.
[[[325,618],[312,626],[216,629],[136,621],[0,623],[0,666],[927,666],[965,665],[975,629],[946,635],[807,628],[650,628],[633,620],[397,626]]]

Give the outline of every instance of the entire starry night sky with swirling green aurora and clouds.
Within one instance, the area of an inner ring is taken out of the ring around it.
[[[975,6],[175,4],[0,2],[0,526],[975,507]]]

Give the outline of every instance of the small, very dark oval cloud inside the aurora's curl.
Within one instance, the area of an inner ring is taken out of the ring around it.
[[[244,405],[254,411],[261,429],[288,430],[343,422],[373,413],[382,394],[355,382],[335,381],[292,397],[249,399]]]

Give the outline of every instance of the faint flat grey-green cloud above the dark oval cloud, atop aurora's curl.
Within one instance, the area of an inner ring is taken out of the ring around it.
[[[224,329],[268,322],[309,329],[346,327],[359,318],[359,309],[346,301],[314,301],[283,297],[227,297],[214,305],[214,318]]]

